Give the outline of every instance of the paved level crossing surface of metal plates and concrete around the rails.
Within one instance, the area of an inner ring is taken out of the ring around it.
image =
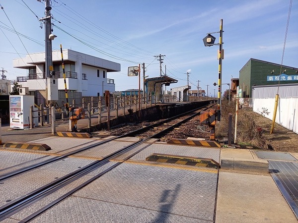
[[[65,131],[67,126],[68,123],[60,124],[57,131]],[[110,137],[59,137],[51,135],[50,126],[28,130],[9,130],[9,126],[3,126],[2,143],[42,143],[51,150],[0,148],[0,174]],[[17,179],[0,182],[1,206],[137,140],[134,137],[117,139],[33,170]],[[297,185],[298,153],[283,155],[269,152],[268,155],[255,150],[175,145],[154,140],[145,145],[140,153],[134,155],[134,152],[119,156],[87,174],[84,178],[90,179],[105,167],[121,163],[32,222],[297,222],[272,174],[264,172],[262,165],[267,162],[267,167],[271,172],[275,170],[274,174],[281,180],[285,177],[278,175],[278,165],[293,165],[296,172],[292,173],[293,179],[290,180]],[[153,153],[210,158],[222,164],[224,161],[225,164],[224,168],[215,169],[146,161]],[[133,156],[126,159],[130,155]],[[280,168],[280,171],[283,170]],[[79,182],[67,187],[75,188],[77,184]],[[3,222],[19,222],[28,210],[37,210],[40,205],[54,201],[63,193],[64,189],[61,189],[47,201],[37,202]]]

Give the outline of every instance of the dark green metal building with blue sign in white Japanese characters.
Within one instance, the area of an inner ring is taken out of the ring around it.
[[[280,73],[282,73],[281,76]],[[280,81],[279,81],[280,79]],[[250,58],[239,71],[242,98],[251,97],[251,88],[258,85],[298,83],[298,68]]]

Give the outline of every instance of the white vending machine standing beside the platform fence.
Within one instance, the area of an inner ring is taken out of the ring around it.
[[[34,96],[9,96],[10,128],[29,128],[30,106],[34,106]]]

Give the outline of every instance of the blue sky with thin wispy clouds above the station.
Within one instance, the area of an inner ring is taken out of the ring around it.
[[[172,87],[189,85],[207,90],[213,96],[218,82],[219,46],[205,47],[207,33],[219,32],[223,19],[222,83],[250,58],[298,67],[298,0],[51,0],[53,50],[72,49],[121,64],[120,72],[109,72],[116,91],[138,89],[139,78],[129,77],[129,66],[145,63],[146,76],[158,77],[162,71],[177,79]],[[14,58],[44,52],[43,0],[0,0],[0,69],[7,79],[26,76],[13,68]],[[37,17],[36,17],[37,16]],[[18,35],[15,33],[18,33]],[[212,34],[219,43],[219,33]],[[27,38],[25,38],[26,36]],[[75,38],[74,38],[75,36]],[[166,67],[166,69],[165,69]],[[199,82],[198,82],[199,81]],[[223,84],[223,91],[228,85]],[[142,84],[141,84],[142,85]]]

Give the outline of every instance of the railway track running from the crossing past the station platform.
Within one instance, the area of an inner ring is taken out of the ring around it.
[[[36,202],[42,200],[45,197],[48,197],[50,195],[52,195],[53,193],[57,192],[58,190],[65,188],[66,186],[70,185],[71,183],[73,183],[74,181],[80,179],[83,176],[86,176],[87,174],[91,173],[92,171],[97,170],[98,168],[103,168],[102,171],[100,171],[99,173],[97,173],[95,176],[91,177],[90,179],[84,181],[83,183],[79,184],[78,186],[70,189],[67,192],[64,192],[64,194],[58,198],[56,198],[54,201],[50,202],[49,204],[45,205],[42,208],[39,208],[37,211],[35,211],[34,213],[30,214],[29,216],[27,216],[26,218],[24,218],[21,222],[28,222],[31,221],[32,219],[36,218],[37,216],[41,215],[43,212],[45,212],[46,210],[50,209],[51,207],[53,207],[54,205],[58,204],[59,202],[63,201],[64,199],[66,199],[67,197],[71,196],[72,194],[74,194],[76,191],[78,191],[79,189],[81,189],[82,187],[86,186],[87,184],[89,184],[90,182],[98,179],[100,176],[102,176],[103,174],[105,174],[106,172],[110,171],[111,169],[119,166],[120,164],[122,164],[123,162],[125,162],[126,160],[130,159],[131,157],[133,157],[134,155],[136,155],[137,153],[141,152],[142,150],[144,150],[145,148],[147,148],[149,145],[151,145],[152,143],[154,143],[154,140],[152,141],[152,138],[159,138],[162,135],[164,135],[166,132],[170,131],[171,129],[175,128],[176,126],[186,122],[187,120],[191,119],[192,117],[198,115],[200,113],[200,111],[205,110],[207,108],[202,108],[202,109],[198,109],[195,111],[189,111],[180,115],[177,115],[175,117],[171,117],[156,123],[153,123],[151,125],[148,125],[146,127],[143,127],[141,129],[129,132],[127,134],[121,135],[121,136],[115,136],[112,138],[109,138],[105,141],[102,142],[97,142],[95,144],[92,145],[88,145],[88,146],[84,146],[80,149],[76,149],[72,152],[69,152],[63,156],[60,157],[54,157],[51,159],[48,159],[46,161],[40,162],[38,164],[35,165],[31,165],[28,167],[24,167],[24,168],[20,168],[18,170],[15,171],[11,171],[9,173],[3,174],[0,176],[0,182],[7,180],[9,178],[12,177],[16,177],[19,174],[22,174],[24,172],[30,171],[32,169],[36,169],[54,162],[57,162],[59,160],[63,160],[71,155],[74,154],[79,154],[82,151],[94,148],[96,146],[108,143],[110,141],[113,141],[115,139],[119,139],[122,137],[128,137],[128,136],[136,136],[139,137],[139,141],[134,142],[124,148],[121,148],[107,156],[105,156],[103,159],[101,160],[97,160],[95,162],[92,162],[89,165],[86,165],[85,167],[81,167],[73,172],[68,173],[67,175],[60,177],[56,180],[54,180],[53,182],[50,182],[40,188],[35,189],[34,191],[27,193],[26,195],[23,195],[17,199],[14,199],[10,202],[8,202],[7,204],[3,205],[0,207],[0,221],[3,221],[9,217],[11,217],[12,215],[20,212],[21,210],[25,209],[28,206],[31,206],[33,204],[35,204]],[[110,160],[116,159],[117,157],[126,154],[127,152],[136,149],[138,147],[138,149],[135,151],[134,153],[130,154],[129,156],[127,156],[125,159],[123,159],[121,162],[113,162],[112,165],[108,165],[108,167],[104,167],[105,165],[107,165],[108,163],[110,163]]]

